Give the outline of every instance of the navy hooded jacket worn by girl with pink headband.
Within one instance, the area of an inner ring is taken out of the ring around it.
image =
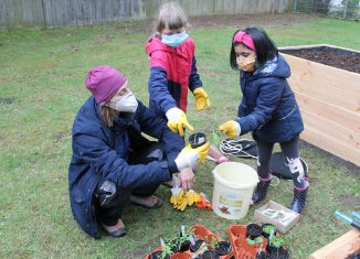
[[[254,74],[240,72],[243,93],[236,121],[241,133],[253,131],[254,139],[285,142],[304,130],[299,107],[287,79],[290,68],[284,57],[258,67]]]

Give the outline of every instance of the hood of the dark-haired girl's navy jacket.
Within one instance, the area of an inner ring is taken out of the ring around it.
[[[288,78],[290,76],[290,67],[282,55],[277,55],[273,60],[266,62],[262,67],[258,67],[254,76]]]

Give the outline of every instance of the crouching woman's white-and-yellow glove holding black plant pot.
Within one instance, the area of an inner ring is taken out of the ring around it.
[[[181,150],[178,158],[176,158],[174,160],[178,170],[181,171],[186,168],[195,169],[198,163],[201,164],[205,161],[209,149],[210,149],[209,141],[195,149],[191,148],[191,144],[188,144],[186,148]]]

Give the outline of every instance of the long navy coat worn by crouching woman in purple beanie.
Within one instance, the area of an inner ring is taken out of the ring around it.
[[[100,176],[118,187],[133,190],[171,180],[170,163],[177,158],[184,141],[169,130],[163,119],[140,101],[131,123],[120,118],[108,128],[99,117],[99,107],[93,97],[77,112],[73,126],[73,157],[68,168],[68,190],[72,212],[80,226],[98,238],[94,191]],[[130,150],[140,150],[145,141],[141,132],[165,142],[168,161],[129,165]]]

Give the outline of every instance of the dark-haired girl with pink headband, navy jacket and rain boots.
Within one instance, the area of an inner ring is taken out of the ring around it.
[[[253,194],[254,204],[263,201],[272,182],[269,160],[275,143],[287,158],[294,182],[290,209],[301,213],[309,187],[299,159],[299,133],[304,123],[299,107],[287,78],[290,68],[278,54],[273,41],[258,28],[239,30],[232,39],[230,65],[240,71],[243,98],[236,120],[219,127],[229,138],[250,131],[257,143],[258,184]]]

